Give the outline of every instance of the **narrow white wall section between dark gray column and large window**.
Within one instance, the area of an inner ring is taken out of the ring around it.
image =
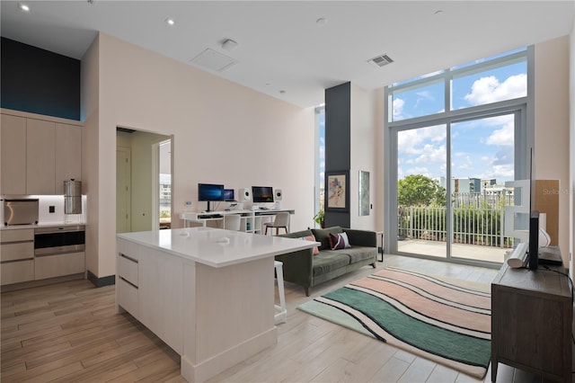
[[[351,84],[351,131],[349,147],[349,222],[350,227],[375,230],[376,209],[370,209],[368,216],[359,216],[359,171],[369,172],[370,202],[375,200],[376,183],[376,98],[375,92],[366,91]],[[374,204],[375,208],[377,205]]]

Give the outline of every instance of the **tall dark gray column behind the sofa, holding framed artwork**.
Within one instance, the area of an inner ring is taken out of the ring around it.
[[[325,90],[325,172],[349,172],[351,166],[351,83]],[[327,183],[327,177],[326,177]],[[327,199],[328,187],[325,184]],[[348,179],[349,192],[349,179]],[[349,200],[349,196],[348,196]],[[326,200],[327,206],[327,200]],[[349,207],[348,207],[349,208]],[[325,210],[325,227],[350,226],[349,209]]]

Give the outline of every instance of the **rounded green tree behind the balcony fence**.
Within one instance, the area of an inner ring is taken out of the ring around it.
[[[397,200],[401,206],[445,206],[446,189],[422,174],[411,174],[397,183]]]

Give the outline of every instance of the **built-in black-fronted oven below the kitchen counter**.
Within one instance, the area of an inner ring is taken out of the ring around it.
[[[84,225],[34,228],[34,255],[54,255],[83,252]]]

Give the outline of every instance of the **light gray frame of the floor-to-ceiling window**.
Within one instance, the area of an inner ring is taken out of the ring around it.
[[[452,110],[451,97],[452,97],[452,80],[454,76],[468,76],[473,73],[481,73],[482,71],[489,70],[491,67],[505,67],[506,65],[517,62],[518,60],[526,60],[527,72],[527,94],[524,97],[509,99],[500,102],[491,102],[482,105],[470,106],[467,108]],[[385,222],[385,243],[389,244],[388,248],[394,254],[397,254],[397,132],[407,129],[418,129],[426,126],[445,124],[447,129],[454,122],[464,120],[474,120],[482,117],[495,116],[500,114],[517,113],[518,126],[516,125],[515,131],[515,177],[516,179],[526,179],[528,174],[527,164],[530,148],[535,147],[535,86],[534,86],[534,73],[535,73],[535,53],[534,47],[529,46],[526,49],[516,51],[508,56],[497,56],[496,58],[478,62],[473,65],[464,64],[455,69],[449,68],[436,72],[433,76],[421,76],[421,78],[413,81],[405,81],[396,83],[396,85],[385,86],[384,100],[386,108],[384,108],[384,222]],[[426,116],[415,117],[404,120],[390,120],[390,113],[393,113],[393,93],[403,89],[414,88],[418,85],[429,83],[429,81],[443,78],[445,85],[445,111],[429,114]],[[398,85],[397,85],[398,84]],[[448,143],[447,151],[451,150],[451,143]],[[450,176],[450,174],[448,174]],[[449,184],[449,183],[447,183]],[[449,192],[447,190],[447,192]],[[418,255],[409,254],[411,256]],[[425,258],[424,255],[420,257]],[[450,263],[466,263],[477,264],[468,260],[460,258],[447,257],[447,262]],[[482,263],[482,265],[487,265]],[[493,267],[493,265],[491,265]],[[497,267],[497,266],[494,266]]]

